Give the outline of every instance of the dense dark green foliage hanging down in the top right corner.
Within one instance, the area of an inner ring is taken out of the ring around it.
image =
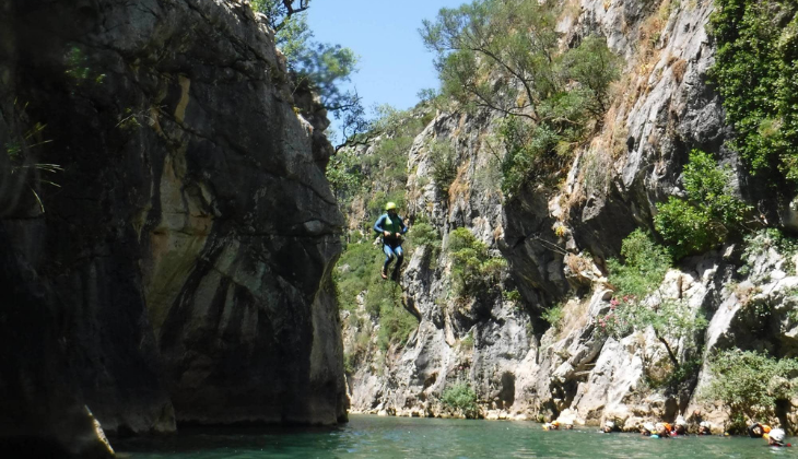
[[[753,173],[798,181],[798,3],[715,0],[708,31],[717,43],[709,76]],[[781,180],[776,180],[776,184]]]

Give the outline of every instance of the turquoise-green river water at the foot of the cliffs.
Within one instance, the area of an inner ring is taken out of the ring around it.
[[[653,439],[591,428],[543,432],[531,422],[365,415],[332,428],[183,429],[177,436],[113,444],[131,459],[798,457],[798,448],[771,448],[753,438]]]

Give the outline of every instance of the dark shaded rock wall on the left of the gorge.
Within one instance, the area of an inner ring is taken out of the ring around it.
[[[77,399],[112,432],[344,419],[328,121],[265,21],[237,0],[2,8],[0,143],[62,172],[27,167],[1,224],[52,293]]]

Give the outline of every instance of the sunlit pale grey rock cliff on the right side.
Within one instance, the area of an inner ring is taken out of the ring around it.
[[[458,414],[442,397],[465,381],[476,390],[480,415],[489,419],[551,420],[575,412],[588,423],[614,419],[632,429],[644,420],[683,414],[721,428],[727,421],[723,407],[705,405],[700,397],[711,378],[705,362],[714,350],[741,346],[795,355],[794,254],[779,255],[767,244],[747,258],[739,246],[688,258],[668,273],[660,290],[703,308],[709,320],[706,332],[694,339],[704,362],[700,376],[678,390],[657,386],[664,375],[652,374],[673,370],[667,369],[668,356],[652,330],[620,340],[600,332],[598,319],[612,298],[606,261],[619,256],[622,239],[635,227],[653,227],[656,203],[681,193],[690,150],[712,152],[735,166],[738,192],[763,215],[778,220],[784,209],[737,167],[740,160],[726,146],[731,129],[719,96],[706,83],[714,62],[705,30],[712,1],[564,3],[558,26],[563,46],[599,34],[625,60],[603,127],[556,177],[558,186],[529,187],[507,201],[498,189],[495,117],[438,111],[407,152],[407,216],[438,228],[444,247],[454,229],[467,227],[508,266],[497,290],[463,301],[451,295],[451,255],[429,246],[415,249],[401,284],[402,303],[418,309],[419,323],[406,343],[384,350],[376,339],[384,325],[369,318],[361,296],[360,309],[342,316],[345,353],[354,362],[348,368],[353,410]],[[434,178],[431,145],[436,142],[454,148],[458,165],[446,190]],[[760,274],[738,272],[744,264]],[[565,318],[549,328],[541,314],[558,302]],[[754,317],[752,304],[766,305],[773,314]],[[752,322],[767,331],[751,337],[744,330]],[[375,338],[364,344],[364,334]],[[688,348],[678,346],[680,358],[696,358]]]

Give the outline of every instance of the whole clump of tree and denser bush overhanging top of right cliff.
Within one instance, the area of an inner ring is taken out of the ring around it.
[[[442,9],[421,35],[443,94],[507,116],[502,190],[559,172],[609,106],[620,58],[600,37],[561,52],[554,1],[476,0]]]

